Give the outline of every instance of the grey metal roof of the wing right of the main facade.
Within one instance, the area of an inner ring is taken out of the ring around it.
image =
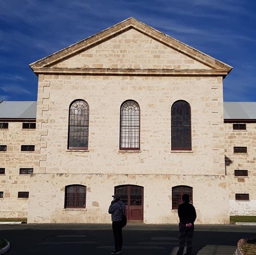
[[[256,102],[224,102],[224,119],[256,119]]]

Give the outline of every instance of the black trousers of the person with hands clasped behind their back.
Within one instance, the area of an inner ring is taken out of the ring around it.
[[[177,255],[183,254],[186,239],[187,239],[186,255],[192,255],[194,224],[191,227],[186,227],[185,224],[179,223],[179,230],[180,230],[180,246],[179,246]]]

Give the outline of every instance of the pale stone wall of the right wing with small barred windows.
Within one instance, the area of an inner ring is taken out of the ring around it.
[[[256,214],[256,123],[246,123],[246,130],[233,130],[224,124],[226,175],[230,190],[230,215]],[[247,146],[246,154],[234,153],[234,146]],[[248,177],[235,177],[234,170],[248,170]],[[236,201],[236,193],[248,193],[250,201]]]

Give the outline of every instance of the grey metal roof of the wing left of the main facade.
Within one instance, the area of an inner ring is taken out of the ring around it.
[[[36,119],[36,101],[0,101],[0,118]]]

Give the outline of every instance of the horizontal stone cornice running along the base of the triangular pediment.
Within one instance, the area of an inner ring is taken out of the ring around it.
[[[226,76],[225,69],[118,69],[118,68],[64,68],[64,67],[34,67],[36,74],[83,74],[83,75],[141,75],[141,76]]]

